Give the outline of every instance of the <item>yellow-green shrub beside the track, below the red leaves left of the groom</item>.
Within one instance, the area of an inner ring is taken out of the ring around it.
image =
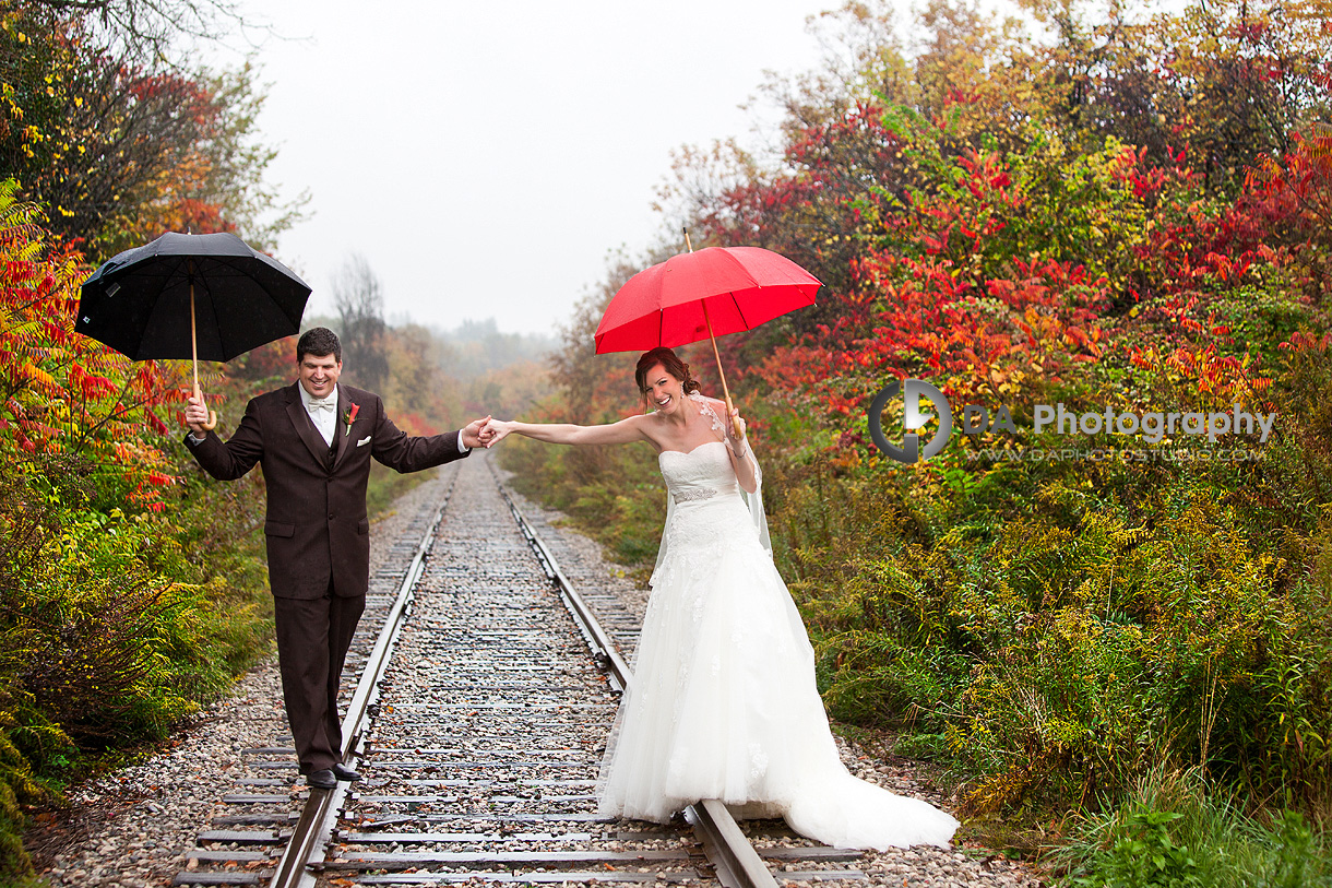
[[[23,805],[59,804],[101,753],[165,737],[268,648],[246,549],[206,563],[201,528],[230,545],[233,516],[204,512],[208,500],[104,512],[99,499],[115,497],[97,480],[72,459],[0,461],[0,857],[12,875],[29,872]],[[226,565],[230,584],[212,573]]]

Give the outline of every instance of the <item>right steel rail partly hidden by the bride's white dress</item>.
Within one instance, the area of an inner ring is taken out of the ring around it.
[[[587,603],[578,595],[573,583],[559,569],[555,556],[551,555],[545,541],[537,536],[531,524],[527,523],[522,511],[518,509],[513,497],[509,496],[509,491],[505,489],[503,483],[500,480],[494,463],[489,463],[489,465],[492,473],[496,475],[496,484],[500,487],[501,496],[509,504],[509,511],[513,512],[514,519],[518,521],[522,535],[541,560],[546,576],[550,577],[550,581],[559,591],[561,600],[587,640],[587,645],[591,648],[598,667],[609,673],[610,680],[619,691],[627,689],[629,683],[634,677],[629,664],[621,656],[615,643],[611,641],[610,636],[602,628],[591,608],[587,607]],[[694,832],[703,843],[709,861],[717,869],[718,881],[726,888],[777,888],[777,880],[773,877],[767,864],[754,851],[754,845],[745,837],[739,824],[735,823],[735,817],[731,816],[725,804],[715,799],[699,801],[685,809],[685,819],[694,827]]]

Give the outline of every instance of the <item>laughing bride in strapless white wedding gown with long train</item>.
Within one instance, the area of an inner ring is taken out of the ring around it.
[[[958,821],[852,777],[814,684],[814,649],[773,564],[743,420],[669,348],[638,360],[649,407],[610,425],[490,420],[551,444],[647,441],[669,491],[634,677],[601,768],[602,815],[666,823],[703,799],[782,816],[842,848],[947,847]],[[738,427],[738,431],[737,428]],[[749,505],[747,505],[749,503]]]

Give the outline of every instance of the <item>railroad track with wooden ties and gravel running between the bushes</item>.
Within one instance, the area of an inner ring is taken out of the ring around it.
[[[715,801],[666,825],[599,817],[598,765],[633,679],[602,625],[631,615],[573,588],[489,455],[446,472],[417,539],[372,579],[354,643],[344,736],[365,779],[310,792],[289,739],[245,751],[265,776],[224,799],[173,884],[864,880],[844,867],[859,852],[781,821],[742,827]]]

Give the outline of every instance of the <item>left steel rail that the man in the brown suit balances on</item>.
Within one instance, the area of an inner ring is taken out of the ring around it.
[[[457,481],[458,476],[454,473],[449,489],[445,491],[440,507],[430,519],[430,525],[421,536],[421,543],[402,577],[393,607],[384,617],[384,627],[380,629],[374,648],[372,648],[365,668],[361,671],[361,679],[356,684],[356,692],[348,704],[346,716],[342,719],[341,752],[342,760],[350,767],[356,765],[360,756],[366,717],[370,715],[374,701],[378,700],[380,681],[393,656],[393,647],[402,633],[402,624],[409,613],[412,599],[416,596],[416,585],[425,572],[425,560],[434,544],[434,532],[440,527],[440,521],[444,520],[444,511],[449,505],[449,497],[453,495],[453,487]],[[346,796],[346,787],[348,784],[338,781],[334,789],[310,788],[310,796],[301,809],[300,820],[292,829],[292,837],[277,863],[269,888],[312,888],[316,884],[316,875],[310,872],[310,865],[318,864],[324,859],[338,809]]]

